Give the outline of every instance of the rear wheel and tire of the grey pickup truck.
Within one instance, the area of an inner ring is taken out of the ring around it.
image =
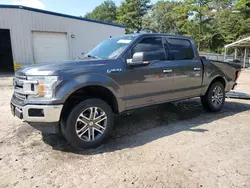
[[[225,87],[221,82],[213,83],[206,95],[201,97],[201,103],[208,112],[218,112],[225,103]]]

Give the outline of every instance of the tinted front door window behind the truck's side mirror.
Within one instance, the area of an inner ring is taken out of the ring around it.
[[[133,49],[132,57],[136,52],[147,54],[148,61],[165,60],[165,50],[163,48],[161,37],[148,37],[142,39]]]

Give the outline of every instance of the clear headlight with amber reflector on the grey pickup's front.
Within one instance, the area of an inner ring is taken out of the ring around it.
[[[28,76],[29,81],[37,81],[35,87],[37,91],[36,95],[28,95],[28,99],[51,99],[53,97],[53,91],[56,83],[58,82],[58,76]]]

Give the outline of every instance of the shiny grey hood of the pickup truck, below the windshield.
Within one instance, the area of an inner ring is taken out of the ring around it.
[[[100,66],[105,66],[106,60],[91,59],[91,60],[74,60],[53,62],[46,64],[30,65],[20,69],[17,74],[22,75],[59,75],[61,72],[88,72]]]

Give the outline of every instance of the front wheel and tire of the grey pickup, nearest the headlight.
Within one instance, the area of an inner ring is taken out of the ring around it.
[[[107,141],[113,124],[113,111],[105,101],[87,99],[70,112],[64,125],[64,137],[77,149],[94,148]]]

